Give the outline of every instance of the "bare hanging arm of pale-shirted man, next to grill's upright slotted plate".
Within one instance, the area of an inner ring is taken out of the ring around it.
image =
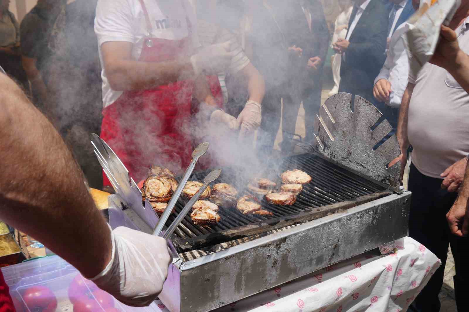
[[[404,178],[404,170],[407,165],[407,149],[410,146],[407,135],[408,112],[412,92],[414,92],[415,84],[408,83],[407,88],[402,97],[401,107],[399,108],[399,120],[397,123],[397,141],[401,148],[401,181]]]

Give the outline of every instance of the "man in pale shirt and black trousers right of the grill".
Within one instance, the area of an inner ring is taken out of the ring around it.
[[[462,0],[449,24],[454,30],[452,42],[458,42],[465,53],[469,52],[468,16],[469,0]],[[441,39],[445,40],[446,37]],[[437,58],[433,60],[436,65],[425,64],[418,74],[409,70],[409,83],[399,113],[397,138],[402,153],[401,178],[407,163],[407,149],[410,144],[414,148],[408,178],[408,190],[412,192],[409,236],[442,262],[416,297],[414,310],[410,311],[439,311],[438,294],[443,284],[448,245],[456,268],[454,290],[458,311],[465,311],[467,305],[469,241],[450,234],[445,216],[456,201],[455,191],[461,185],[468,163],[469,94],[463,89],[468,89],[467,82],[460,79],[467,76],[466,69],[460,65],[459,55],[448,46],[451,45],[445,43],[436,51]],[[455,62],[448,62],[446,66],[439,59],[454,59],[457,63],[452,66]]]

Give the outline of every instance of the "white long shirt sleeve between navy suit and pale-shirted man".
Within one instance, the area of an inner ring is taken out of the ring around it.
[[[409,61],[407,50],[402,35],[405,32],[404,24],[400,25],[391,37],[386,61],[375,79],[375,84],[380,79],[386,79],[391,83],[389,105],[394,108],[401,106],[402,96],[407,88]]]

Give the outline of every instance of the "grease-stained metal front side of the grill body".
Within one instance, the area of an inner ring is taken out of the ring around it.
[[[410,193],[391,194],[172,266],[159,299],[207,312],[407,235]]]

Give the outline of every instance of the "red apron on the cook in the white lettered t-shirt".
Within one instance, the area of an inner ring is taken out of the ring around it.
[[[187,57],[190,38],[166,40],[150,37],[150,17],[142,0],[149,36],[145,38],[141,61],[162,62]],[[175,171],[191,161],[189,135],[193,83],[179,81],[153,89],[126,91],[103,110],[101,138],[119,156],[135,181],[146,178],[152,164]],[[110,185],[104,175],[104,185]]]

